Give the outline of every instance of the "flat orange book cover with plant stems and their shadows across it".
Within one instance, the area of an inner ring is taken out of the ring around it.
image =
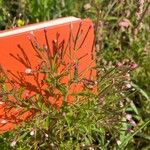
[[[85,89],[95,92],[93,42],[89,19],[1,38],[0,133],[40,112],[30,107],[36,95],[59,109]]]

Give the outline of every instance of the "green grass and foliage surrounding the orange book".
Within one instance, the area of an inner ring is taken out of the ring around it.
[[[42,115],[37,113],[29,122],[1,135],[0,149],[12,149],[10,143],[15,140],[16,149],[148,150],[149,1],[145,1],[143,7],[135,0],[13,2],[0,0],[0,29],[19,26],[18,19],[28,24],[70,15],[90,17],[95,22],[98,94],[85,91],[75,95],[76,103],[69,106],[64,103],[59,111],[45,107],[41,97],[36,95],[34,108],[42,110]],[[143,9],[143,16],[137,19],[139,9]],[[128,27],[121,26],[124,19],[128,20]],[[132,64],[138,65],[134,71]],[[53,86],[65,96],[67,89],[57,78],[49,77],[45,82],[51,84],[54,79]],[[83,103],[79,102],[81,95]],[[127,114],[132,118],[127,118]]]

